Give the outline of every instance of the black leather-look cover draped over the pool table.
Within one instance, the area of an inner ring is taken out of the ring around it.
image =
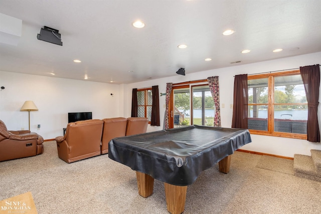
[[[157,180],[187,186],[250,142],[247,129],[192,125],[114,138],[108,157]]]

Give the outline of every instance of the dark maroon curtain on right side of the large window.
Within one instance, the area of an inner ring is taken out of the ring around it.
[[[307,140],[320,142],[320,130],[317,120],[317,106],[319,105],[320,65],[300,67],[307,100]]]

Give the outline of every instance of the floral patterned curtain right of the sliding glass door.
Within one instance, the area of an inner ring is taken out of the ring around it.
[[[220,110],[220,87],[219,77],[208,77],[207,81],[210,86],[212,97],[215,105],[214,126],[221,127],[221,110]]]

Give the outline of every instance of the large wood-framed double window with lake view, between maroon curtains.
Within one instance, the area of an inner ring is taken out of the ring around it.
[[[307,101],[299,70],[248,76],[252,134],[306,139]]]

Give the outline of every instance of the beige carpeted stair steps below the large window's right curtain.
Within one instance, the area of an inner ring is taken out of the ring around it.
[[[311,149],[311,156],[294,154],[294,175],[321,182],[321,150]]]

